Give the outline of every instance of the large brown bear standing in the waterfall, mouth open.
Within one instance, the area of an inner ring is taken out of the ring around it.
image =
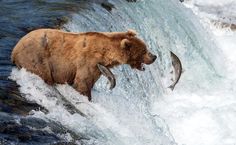
[[[20,39],[11,59],[47,84],[68,83],[91,100],[91,89],[101,74],[112,75],[109,68],[129,64],[144,70],[143,64],[153,63],[156,56],[133,30],[70,33],[38,29]]]

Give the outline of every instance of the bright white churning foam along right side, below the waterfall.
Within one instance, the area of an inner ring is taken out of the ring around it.
[[[236,33],[224,23],[235,24],[235,1],[186,1],[197,19],[214,39],[223,56],[222,81],[208,86],[208,91],[198,89],[189,92],[180,87],[171,94],[159,97],[154,112],[166,121],[175,141],[186,145],[235,145],[236,97],[235,97],[235,48]],[[204,70],[202,70],[204,71]],[[183,74],[184,75],[184,74]],[[197,74],[193,74],[197,75]],[[201,85],[201,80],[194,80]],[[184,80],[182,80],[183,83]],[[179,84],[182,85],[182,84]],[[194,87],[191,85],[191,87]]]

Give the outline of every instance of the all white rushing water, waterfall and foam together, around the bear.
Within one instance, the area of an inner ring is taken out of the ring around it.
[[[115,6],[111,13],[91,4],[65,28],[73,32],[135,29],[158,55],[157,61],[146,66],[145,72],[129,66],[114,68],[116,88],[109,91],[106,78],[101,77],[92,91],[92,102],[68,85],[57,85],[87,117],[70,114],[58,92],[39,77],[13,69],[10,77],[20,85],[24,97],[49,110],[32,115],[83,134],[86,138],[78,144],[235,145],[236,75],[232,65],[236,59],[231,53],[235,45],[230,43],[235,35],[226,39],[206,31],[208,25],[176,0],[110,3]],[[223,49],[221,41],[231,47]],[[179,56],[184,68],[173,92],[167,89],[171,83],[169,50]]]

